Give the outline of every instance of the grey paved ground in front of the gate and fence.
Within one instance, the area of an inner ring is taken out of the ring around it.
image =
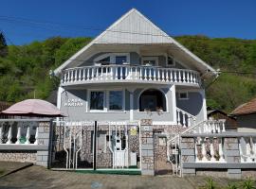
[[[30,166],[0,179],[0,188],[198,188],[206,178],[143,177],[126,175],[82,174],[65,171],[51,171],[40,166]],[[219,185],[226,185],[225,179],[214,179]]]

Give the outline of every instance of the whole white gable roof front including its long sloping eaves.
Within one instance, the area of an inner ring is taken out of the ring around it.
[[[216,71],[210,67],[205,61],[199,59],[192,54],[182,44],[176,42],[172,37],[162,31],[159,27],[155,26],[149,19],[142,15],[137,9],[131,9],[119,18],[113,25],[109,26],[91,43],[85,45],[80,51],[73,55],[69,60],[66,60],[59,66],[54,73],[60,74],[61,71],[76,59],[82,58],[82,54],[88,52],[93,44],[97,43],[169,43],[173,44],[177,50],[184,53],[195,64],[195,67],[200,72],[205,73],[210,71],[210,76],[217,75]],[[205,75],[205,74],[204,74]]]

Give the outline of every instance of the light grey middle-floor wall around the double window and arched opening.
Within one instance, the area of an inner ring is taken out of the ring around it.
[[[134,92],[134,120],[153,119],[154,121],[174,121],[175,106],[173,104],[173,92],[169,88],[159,89],[166,96],[167,112],[138,112],[139,95],[144,90],[145,88],[137,88]],[[66,102],[70,99],[81,99],[82,106],[66,106]],[[123,112],[89,112],[88,108],[86,108],[86,106],[89,107],[89,104],[87,105],[86,89],[64,91],[61,104],[61,111],[67,115],[66,119],[69,121],[121,121],[130,119],[130,92],[127,89],[125,89],[125,109]],[[106,104],[104,106],[106,107]]]

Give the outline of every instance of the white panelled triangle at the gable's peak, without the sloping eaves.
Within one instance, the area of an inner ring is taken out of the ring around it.
[[[137,9],[131,9],[109,26],[94,43],[174,43]]]

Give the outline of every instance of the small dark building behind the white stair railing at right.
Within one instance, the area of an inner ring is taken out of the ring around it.
[[[234,117],[229,116],[226,112],[220,110],[208,109],[207,111],[208,119],[212,118],[214,120],[225,120],[225,125],[227,130],[237,129],[237,121]]]

